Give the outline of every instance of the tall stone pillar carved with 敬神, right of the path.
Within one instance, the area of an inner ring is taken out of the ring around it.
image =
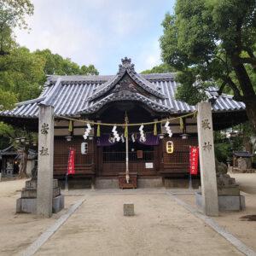
[[[197,104],[197,130],[201,170],[201,193],[203,212],[218,216],[218,190],[212,130],[212,107],[210,102]]]

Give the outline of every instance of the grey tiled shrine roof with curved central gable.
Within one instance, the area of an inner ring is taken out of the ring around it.
[[[129,61],[129,59],[127,60]],[[119,73],[124,72],[124,70],[119,67]],[[52,105],[55,108],[56,115],[76,116],[81,111],[91,113],[101,108],[108,101],[122,100],[119,94],[112,93],[104,96],[107,91],[104,89],[108,87],[108,90],[110,90],[110,87],[113,87],[114,83],[112,84],[112,82],[113,80],[119,80],[119,73],[116,76],[49,76],[48,82],[44,85],[44,90],[38,99],[20,102],[15,109],[4,111],[0,115],[37,118],[39,102]],[[131,71],[129,75],[143,90],[154,96],[148,98],[142,94],[134,93],[135,97],[132,100],[146,103],[149,108],[153,108],[157,112],[172,114],[195,111],[195,106],[175,100],[177,87],[177,82],[174,79],[175,73],[137,74]],[[212,102],[213,112],[245,109],[245,104],[232,100],[232,96],[218,96],[214,91],[208,91],[207,95]],[[125,94],[123,99],[131,100],[129,94]]]

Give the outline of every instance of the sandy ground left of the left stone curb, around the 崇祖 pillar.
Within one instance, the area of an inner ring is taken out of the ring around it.
[[[25,179],[0,183],[0,255],[19,254],[67,211],[79,196],[65,197],[65,209],[52,218],[39,218],[35,214],[16,214],[16,200],[25,187]]]

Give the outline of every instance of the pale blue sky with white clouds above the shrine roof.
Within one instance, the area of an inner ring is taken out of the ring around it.
[[[118,72],[131,58],[137,73],[161,63],[160,25],[174,0],[32,0],[32,28],[15,30],[17,42],[32,51],[50,49],[102,75]]]

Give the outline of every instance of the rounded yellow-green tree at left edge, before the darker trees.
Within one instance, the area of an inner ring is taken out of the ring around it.
[[[29,49],[15,48],[9,55],[0,55],[0,90],[11,96],[7,101],[0,98],[2,108],[38,97],[44,77],[44,59]]]

